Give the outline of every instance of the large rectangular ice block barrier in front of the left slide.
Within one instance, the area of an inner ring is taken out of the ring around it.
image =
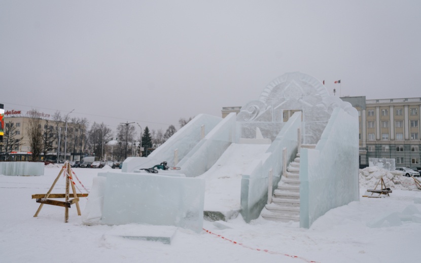
[[[147,223],[202,231],[204,179],[142,173],[107,178],[101,223]]]

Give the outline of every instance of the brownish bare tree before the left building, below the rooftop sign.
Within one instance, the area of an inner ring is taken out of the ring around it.
[[[30,118],[26,132],[29,138],[29,147],[32,152],[31,161],[38,161],[43,151],[43,129],[41,127],[41,118],[37,110],[30,111]]]

